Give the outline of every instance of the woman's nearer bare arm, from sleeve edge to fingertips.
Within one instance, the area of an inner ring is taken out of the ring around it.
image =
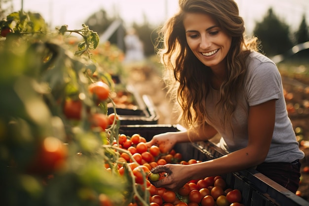
[[[248,119],[249,141],[247,147],[223,157],[193,165],[165,165],[152,172],[167,171],[168,176],[157,182],[156,187],[177,190],[192,179],[239,171],[264,162],[270,148],[275,122],[275,100],[250,107]],[[164,168],[165,167],[165,168]]]

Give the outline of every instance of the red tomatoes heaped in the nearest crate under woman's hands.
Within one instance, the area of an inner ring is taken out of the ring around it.
[[[146,139],[139,134],[133,134],[131,137],[119,134],[118,142],[115,140],[114,145],[123,151],[119,152],[118,161],[123,163],[118,165],[120,175],[124,174],[125,165],[132,170],[135,184],[146,185],[144,190],[149,193],[150,206],[244,206],[241,204],[240,191],[228,188],[225,180],[219,175],[191,180],[177,192],[156,188],[149,181],[149,179],[158,181],[165,178],[164,172],[159,174],[151,172],[157,165],[168,163],[190,165],[199,163],[198,160],[191,159],[186,162],[182,160],[182,154],[175,150],[163,154],[155,145],[148,147]],[[108,164],[106,168],[110,169]],[[142,204],[135,197],[128,206],[142,206]]]

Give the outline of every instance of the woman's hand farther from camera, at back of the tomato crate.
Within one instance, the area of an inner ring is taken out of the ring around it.
[[[176,141],[175,133],[166,132],[166,133],[154,135],[154,137],[146,144],[148,147],[151,147],[152,145],[156,145],[160,148],[161,153],[167,153],[173,149],[176,143],[177,141]]]

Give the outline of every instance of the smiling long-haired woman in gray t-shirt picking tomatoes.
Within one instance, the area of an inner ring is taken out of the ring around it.
[[[229,154],[194,165],[155,167],[152,172],[168,176],[152,183],[177,190],[192,179],[256,167],[295,193],[304,153],[287,115],[277,67],[257,52],[256,38],[245,42],[233,0],[180,0],[179,5],[162,28],[160,54],[188,129],[155,135],[147,144],[168,152],[175,143],[219,133],[219,145]]]

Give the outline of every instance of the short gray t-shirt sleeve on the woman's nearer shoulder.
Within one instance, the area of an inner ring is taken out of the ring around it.
[[[245,82],[245,93],[249,106],[279,99],[282,95],[281,86],[281,75],[273,62],[249,63]]]

